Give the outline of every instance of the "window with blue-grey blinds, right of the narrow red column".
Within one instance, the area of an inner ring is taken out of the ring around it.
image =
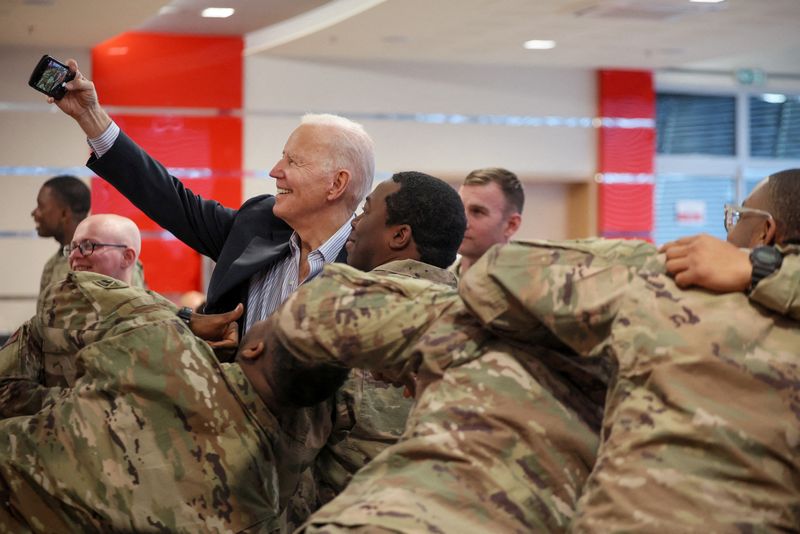
[[[701,91],[670,87],[656,96],[657,244],[701,232],[724,238],[726,202],[740,203],[765,176],[800,167],[800,98],[751,87]]]

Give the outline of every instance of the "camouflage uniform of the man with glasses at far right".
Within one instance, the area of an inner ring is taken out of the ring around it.
[[[636,241],[493,248],[460,293],[504,338],[618,367],[573,531],[797,529],[797,322],[744,294],[680,290]]]

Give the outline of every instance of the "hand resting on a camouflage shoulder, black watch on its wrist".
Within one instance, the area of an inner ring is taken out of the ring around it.
[[[678,287],[698,286],[716,293],[745,291],[753,267],[747,251],[708,234],[684,237],[661,247],[667,272]]]

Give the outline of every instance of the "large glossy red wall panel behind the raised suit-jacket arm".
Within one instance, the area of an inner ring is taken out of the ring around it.
[[[92,50],[92,76],[105,106],[191,108],[112,117],[167,167],[195,171],[176,170],[195,193],[234,208],[242,201],[242,120],[231,111],[242,107],[242,49],[239,37],[131,32]],[[151,289],[200,289],[200,256],[100,178],[92,180],[92,211],[118,213],[139,225]]]

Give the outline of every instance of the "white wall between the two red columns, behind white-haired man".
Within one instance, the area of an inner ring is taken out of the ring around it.
[[[525,182],[517,237],[570,235],[570,189],[596,169],[591,128],[428,124],[390,115],[593,117],[593,71],[458,65],[348,65],[245,58],[244,165],[269,170],[306,112],[361,122],[375,141],[376,171],[418,170],[456,185],[479,167],[501,166]],[[245,182],[245,196],[274,193],[269,179]]]

